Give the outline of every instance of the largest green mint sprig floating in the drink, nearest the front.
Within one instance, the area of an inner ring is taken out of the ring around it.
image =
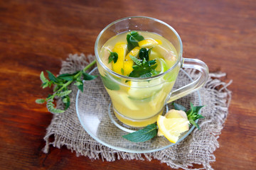
[[[151,77],[159,74],[155,70],[157,67],[156,60],[146,61],[145,58],[139,60],[133,56],[130,56],[130,58],[134,61],[135,65],[132,66],[134,70],[129,74],[129,77]]]

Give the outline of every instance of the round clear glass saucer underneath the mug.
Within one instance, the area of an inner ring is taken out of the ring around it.
[[[92,69],[90,74],[100,75],[97,67]],[[191,82],[193,79],[181,69],[174,85],[174,89],[184,86],[188,81]],[[183,106],[186,108],[190,108],[190,102],[196,106],[202,105],[201,96],[198,91],[180,98],[175,102],[183,103]],[[186,104],[184,105],[184,103]],[[166,149],[177,145],[178,142],[184,140],[195,128],[191,125],[190,129],[183,132],[179,137],[176,144],[169,142],[169,140],[166,140],[163,136],[154,137],[146,142],[130,142],[129,140],[124,139],[122,137],[123,135],[127,135],[128,132],[133,132],[138,129],[124,125],[114,117],[110,96],[108,96],[100,76],[93,81],[84,81],[84,91],[81,92],[78,90],[75,107],[82,127],[92,138],[102,145],[124,152],[149,153]],[[171,108],[173,108],[173,106],[167,104],[164,113]]]

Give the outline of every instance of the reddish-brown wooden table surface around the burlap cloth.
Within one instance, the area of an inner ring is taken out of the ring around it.
[[[94,53],[100,30],[125,16],[151,16],[173,26],[183,57],[233,79],[228,119],[214,152],[214,169],[256,169],[255,1],[48,0],[0,1],[0,169],[171,169],[157,160],[102,162],[65,147],[43,154],[52,115],[39,74],[58,74],[70,53]],[[194,165],[201,167],[201,165]]]

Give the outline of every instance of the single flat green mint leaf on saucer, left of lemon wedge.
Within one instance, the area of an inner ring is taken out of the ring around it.
[[[145,142],[157,135],[156,123],[147,125],[144,129],[124,135],[125,139],[131,142]]]

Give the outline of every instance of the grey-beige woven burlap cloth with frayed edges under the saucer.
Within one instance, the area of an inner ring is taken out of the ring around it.
[[[92,61],[93,59],[94,56],[92,55],[87,57],[83,54],[80,56],[69,55],[68,59],[62,64],[60,74],[73,73],[83,69],[88,64],[87,61]],[[196,72],[186,71],[189,72],[192,78],[198,76]],[[70,108],[65,113],[53,115],[44,137],[46,147],[43,148],[43,152],[48,153],[50,145],[58,148],[64,145],[72,152],[75,151],[77,156],[83,155],[90,159],[102,159],[102,161],[107,160],[108,162],[113,162],[116,159],[147,159],[149,161],[151,159],[159,159],[159,161],[174,169],[193,169],[191,167],[193,164],[202,164],[203,169],[212,169],[210,162],[215,162],[213,152],[219,147],[218,137],[227,118],[228,106],[231,100],[231,92],[227,89],[231,81],[226,84],[219,79],[224,76],[225,74],[223,73],[210,74],[210,79],[208,79],[206,85],[199,90],[201,101],[206,106],[201,111],[205,118],[198,121],[201,130],[195,128],[178,145],[147,154],[120,152],[101,145],[90,137],[82,128],[75,110],[75,97],[78,89],[76,86],[71,86],[73,93],[70,95]],[[186,84],[187,82],[184,83]],[[87,102],[90,104],[90,101]],[[178,103],[189,106],[189,101],[182,98]],[[198,101],[193,103],[198,103]],[[57,106],[59,108],[63,107],[60,102],[57,103]],[[49,137],[53,137],[52,142],[50,142]]]

